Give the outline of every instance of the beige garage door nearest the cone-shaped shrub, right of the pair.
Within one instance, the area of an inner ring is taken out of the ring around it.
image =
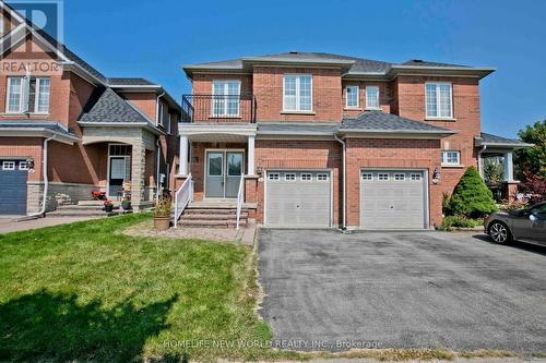
[[[364,229],[426,228],[423,171],[363,170],[360,227]]]

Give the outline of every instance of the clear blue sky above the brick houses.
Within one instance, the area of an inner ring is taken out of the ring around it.
[[[64,0],[64,43],[107,76],[176,98],[181,64],[290,50],[495,66],[482,129],[514,137],[546,117],[546,1]]]

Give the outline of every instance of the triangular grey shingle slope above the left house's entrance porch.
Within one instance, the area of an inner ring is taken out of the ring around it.
[[[143,123],[150,122],[140,111],[111,88],[104,89],[90,110],[84,110],[81,122]]]

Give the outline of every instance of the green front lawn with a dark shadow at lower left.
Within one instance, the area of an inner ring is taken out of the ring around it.
[[[0,235],[0,361],[266,358],[230,346],[271,338],[252,251],[121,234],[146,218]]]

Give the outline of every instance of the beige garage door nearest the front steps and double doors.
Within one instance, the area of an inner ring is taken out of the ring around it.
[[[268,171],[266,178],[266,227],[330,227],[330,171]]]

